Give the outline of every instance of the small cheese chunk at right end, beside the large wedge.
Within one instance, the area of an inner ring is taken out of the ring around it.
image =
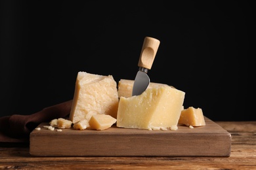
[[[194,107],[181,110],[179,124],[186,126],[205,126],[203,110],[201,108],[195,109]]]

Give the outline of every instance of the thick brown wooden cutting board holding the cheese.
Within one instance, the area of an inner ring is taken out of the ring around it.
[[[206,126],[178,126],[177,131],[110,127],[41,130],[30,133],[32,156],[230,156],[231,135],[205,117]]]

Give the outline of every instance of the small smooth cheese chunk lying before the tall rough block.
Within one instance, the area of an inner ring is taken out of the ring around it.
[[[91,116],[89,124],[91,129],[104,130],[116,123],[116,118],[107,114],[95,114]]]

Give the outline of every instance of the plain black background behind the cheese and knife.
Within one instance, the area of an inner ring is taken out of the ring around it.
[[[134,79],[144,37],[151,82],[211,120],[256,120],[253,1],[1,1],[0,116],[72,99],[78,71]]]

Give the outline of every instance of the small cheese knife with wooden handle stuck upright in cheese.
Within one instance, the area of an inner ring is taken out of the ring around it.
[[[159,45],[160,41],[158,39],[152,37],[144,38],[138,63],[139,71],[135,76],[132,95],[140,95],[148,88],[150,78],[147,73],[152,67]]]

